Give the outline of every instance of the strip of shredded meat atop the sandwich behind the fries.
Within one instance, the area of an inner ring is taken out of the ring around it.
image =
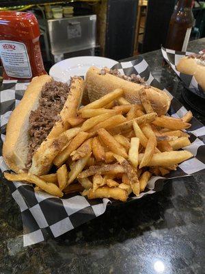
[[[128,82],[134,82],[136,84],[142,84],[143,86],[146,86],[147,88],[150,87],[148,84],[146,84],[145,80],[141,77],[139,77],[136,74],[131,74],[131,76],[122,75],[120,74],[120,71],[118,69],[107,69],[107,67],[101,69],[100,74],[105,75],[106,73],[109,73],[111,75],[115,75],[118,78],[124,79]]]

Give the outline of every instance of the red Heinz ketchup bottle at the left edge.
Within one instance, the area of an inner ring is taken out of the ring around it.
[[[0,12],[3,79],[27,81],[46,74],[39,37],[38,21],[31,12]]]

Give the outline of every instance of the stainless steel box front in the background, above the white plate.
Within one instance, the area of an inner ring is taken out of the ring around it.
[[[54,56],[96,47],[96,14],[51,19],[48,26]]]

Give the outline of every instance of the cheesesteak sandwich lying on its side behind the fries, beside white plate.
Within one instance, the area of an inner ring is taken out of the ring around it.
[[[136,104],[141,103],[139,91],[144,88],[154,112],[159,116],[167,113],[171,102],[171,98],[163,90],[149,86],[137,75],[121,75],[116,69],[100,70],[95,66],[90,67],[86,74],[85,87],[90,101],[99,99],[115,88],[122,88],[125,99]]]

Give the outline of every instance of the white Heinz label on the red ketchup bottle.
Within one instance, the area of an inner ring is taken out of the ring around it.
[[[22,42],[0,41],[0,57],[5,73],[10,77],[31,78],[27,48]]]

